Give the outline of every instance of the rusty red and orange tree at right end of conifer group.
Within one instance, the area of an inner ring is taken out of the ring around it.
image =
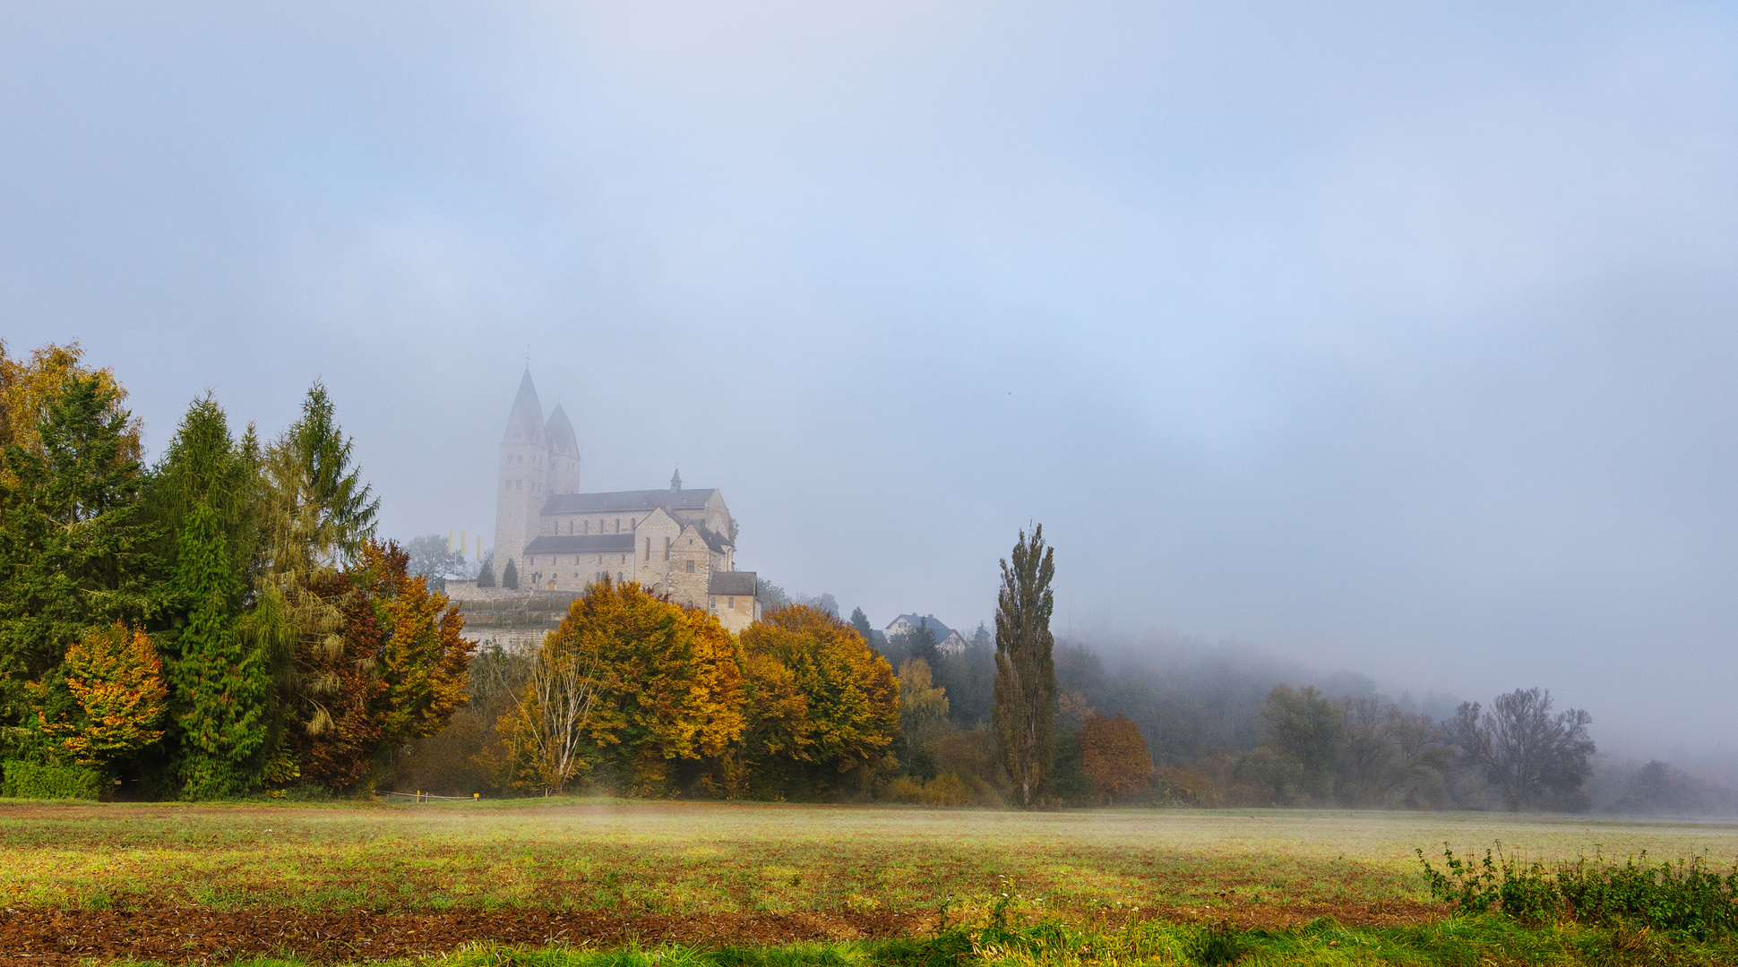
[[[368,542],[351,568],[313,592],[341,602],[341,632],[304,658],[290,741],[302,776],[328,788],[367,786],[407,741],[440,731],[464,705],[473,644],[464,618],[428,580],[407,573],[396,543]],[[334,585],[346,587],[334,587]]]

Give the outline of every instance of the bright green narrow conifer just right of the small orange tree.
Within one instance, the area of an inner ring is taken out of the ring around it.
[[[181,731],[182,799],[242,795],[259,785],[271,670],[236,625],[238,582],[219,514],[200,500],[181,526],[179,595],[193,608],[170,674]]]

